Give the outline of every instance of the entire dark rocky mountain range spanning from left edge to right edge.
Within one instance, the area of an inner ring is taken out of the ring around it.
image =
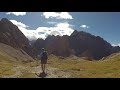
[[[49,35],[45,40],[37,39],[30,42],[18,27],[6,18],[0,21],[0,43],[23,50],[33,58],[40,54],[43,47],[49,55],[63,57],[76,55],[96,60],[120,51],[119,46],[113,47],[99,36],[77,30],[71,36]]]

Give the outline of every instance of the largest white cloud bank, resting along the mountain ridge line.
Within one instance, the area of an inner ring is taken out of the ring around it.
[[[74,31],[68,23],[58,23],[54,27],[38,27],[35,30],[27,29],[27,25],[18,22],[16,20],[10,20],[13,24],[18,26],[21,32],[29,39],[29,40],[36,40],[38,38],[45,39],[48,35],[68,35],[70,36]]]

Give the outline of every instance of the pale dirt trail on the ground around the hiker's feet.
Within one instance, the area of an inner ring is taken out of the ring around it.
[[[3,75],[3,78],[41,78],[38,77],[35,73],[41,73],[40,66],[21,66],[18,65],[14,67],[9,72],[14,72],[12,75]],[[54,67],[47,67],[47,76],[45,78],[69,78],[70,74],[68,72],[59,70]]]

